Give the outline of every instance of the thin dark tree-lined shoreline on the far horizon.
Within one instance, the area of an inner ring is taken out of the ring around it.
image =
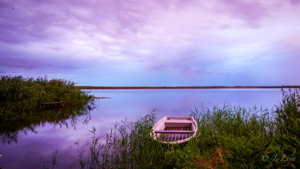
[[[105,86],[76,86],[79,89],[272,89],[300,88],[300,86],[177,86],[177,87],[105,87]]]

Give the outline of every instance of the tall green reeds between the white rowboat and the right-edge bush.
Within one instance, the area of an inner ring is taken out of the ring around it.
[[[199,148],[207,149],[210,146],[224,146],[226,137],[231,135],[242,137],[247,133],[260,135],[263,140],[269,140],[274,134],[274,119],[265,109],[246,109],[241,106],[224,104],[222,107],[212,106],[192,110],[196,115],[198,131],[196,140]]]

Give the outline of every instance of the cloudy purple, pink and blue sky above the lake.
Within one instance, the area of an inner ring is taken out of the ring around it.
[[[299,2],[0,0],[0,74],[94,86],[299,85]]]

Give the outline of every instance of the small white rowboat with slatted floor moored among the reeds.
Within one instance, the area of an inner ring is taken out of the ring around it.
[[[197,123],[193,117],[165,116],[152,129],[155,140],[164,144],[179,144],[196,136]]]

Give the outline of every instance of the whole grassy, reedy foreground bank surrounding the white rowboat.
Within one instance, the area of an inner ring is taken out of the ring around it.
[[[91,131],[90,151],[81,152],[79,168],[299,168],[300,92],[283,91],[271,112],[231,105],[202,107],[196,137],[163,145],[149,133],[155,110],[135,122],[116,124],[104,141]]]

